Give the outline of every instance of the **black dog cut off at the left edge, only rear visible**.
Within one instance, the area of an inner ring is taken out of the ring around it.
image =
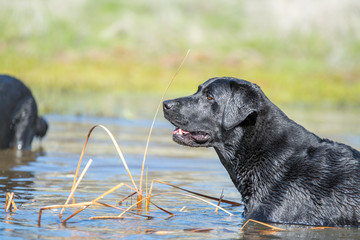
[[[47,129],[31,91],[20,80],[0,75],[0,149],[29,150],[34,136],[44,137]]]

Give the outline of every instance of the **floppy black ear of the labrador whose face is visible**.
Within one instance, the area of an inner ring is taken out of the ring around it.
[[[254,85],[256,86],[256,85]],[[240,85],[231,82],[231,96],[226,103],[222,124],[225,130],[230,130],[245,120],[256,121],[258,113],[258,87],[251,85]]]

